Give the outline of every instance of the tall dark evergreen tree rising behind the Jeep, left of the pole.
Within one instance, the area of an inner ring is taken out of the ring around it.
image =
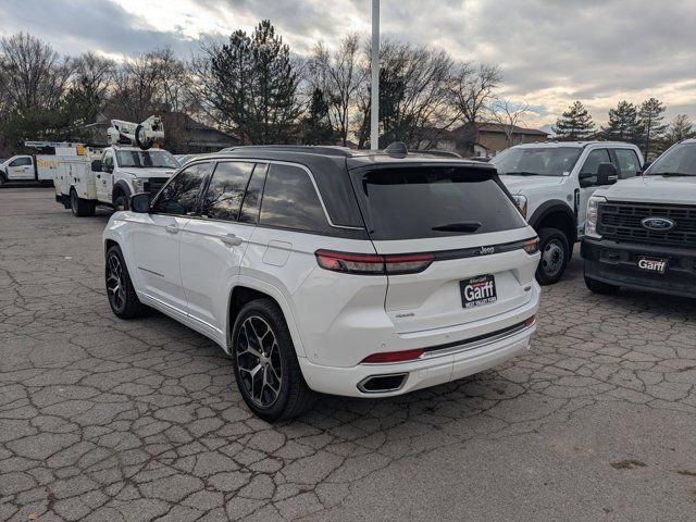
[[[212,104],[252,145],[296,140],[298,75],[270,21],[237,30],[212,57]]]

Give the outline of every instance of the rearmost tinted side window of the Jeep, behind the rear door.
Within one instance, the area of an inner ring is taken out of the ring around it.
[[[259,223],[296,231],[328,229],[324,210],[307,172],[299,166],[271,165]]]

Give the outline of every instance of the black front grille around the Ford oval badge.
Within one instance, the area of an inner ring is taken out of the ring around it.
[[[645,217],[668,217],[674,222],[670,231],[649,231]],[[611,202],[599,206],[598,231],[617,241],[669,247],[696,248],[696,207]]]

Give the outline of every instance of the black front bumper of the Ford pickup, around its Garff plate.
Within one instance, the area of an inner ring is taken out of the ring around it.
[[[585,276],[611,285],[673,296],[696,296],[696,251],[583,238]],[[638,269],[642,256],[668,260],[664,274]]]

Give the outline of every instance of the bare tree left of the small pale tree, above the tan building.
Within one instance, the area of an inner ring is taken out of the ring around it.
[[[497,65],[461,62],[451,76],[452,107],[464,124],[474,125],[483,120],[497,98],[502,82]]]

